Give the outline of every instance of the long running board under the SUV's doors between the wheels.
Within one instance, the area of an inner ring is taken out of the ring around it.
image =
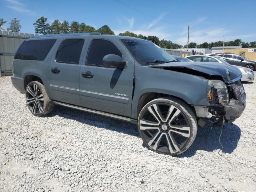
[[[103,116],[107,116],[107,117],[111,117],[111,118],[131,122],[133,124],[137,124],[137,120],[131,119],[131,118],[128,118],[128,117],[123,117],[123,116],[114,115],[114,114],[111,114],[111,113],[96,111],[96,110],[93,110],[93,109],[88,109],[88,108],[84,108],[84,107],[70,105],[70,104],[66,104],[66,103],[62,103],[62,102],[58,102],[58,101],[52,101],[52,102],[54,102],[54,104],[56,104],[56,105],[61,105],[61,106],[64,106],[64,107],[78,109],[78,110],[81,110],[81,111],[85,111],[85,112],[89,112],[89,113],[93,113],[93,114],[97,114],[97,115],[103,115]]]

